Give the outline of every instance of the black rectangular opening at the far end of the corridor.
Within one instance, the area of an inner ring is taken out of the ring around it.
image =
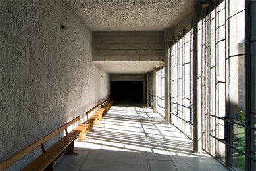
[[[111,81],[115,104],[143,104],[143,81]]]

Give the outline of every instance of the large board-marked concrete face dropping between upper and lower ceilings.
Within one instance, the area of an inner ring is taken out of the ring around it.
[[[164,61],[163,31],[93,31],[93,61]]]

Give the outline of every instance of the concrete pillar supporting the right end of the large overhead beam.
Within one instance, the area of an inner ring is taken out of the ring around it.
[[[169,56],[169,29],[165,28],[165,124],[170,122],[170,56]]]

